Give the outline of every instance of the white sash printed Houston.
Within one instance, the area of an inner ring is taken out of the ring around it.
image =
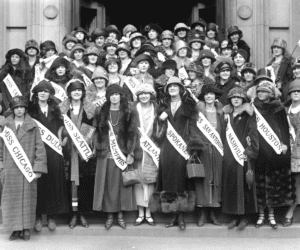
[[[282,153],[282,147],[278,136],[275,134],[261,113],[259,113],[256,107],[253,104],[252,106],[256,114],[257,130],[266,140],[266,142],[274,149],[274,151],[280,155]]]

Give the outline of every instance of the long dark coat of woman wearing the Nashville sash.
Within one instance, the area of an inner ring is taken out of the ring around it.
[[[227,105],[223,108],[224,115],[229,114],[230,124],[237,138],[243,145],[245,152],[251,163],[254,162],[258,155],[258,132],[256,118],[253,109],[249,104],[243,104],[241,113],[233,117],[233,108]],[[249,189],[246,184],[246,172],[248,170],[248,161],[241,166],[233,157],[226,139],[226,127],[228,121],[222,117],[222,138],[224,145],[223,158],[223,184],[222,184],[222,211],[227,214],[250,214],[257,212],[257,200],[255,184]],[[251,141],[251,145],[247,140]],[[252,164],[255,173],[254,165]]]

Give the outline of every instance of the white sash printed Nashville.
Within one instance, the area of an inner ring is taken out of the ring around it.
[[[230,123],[230,116],[228,114],[225,115],[227,118],[227,128],[226,128],[226,139],[231,150],[231,153],[234,159],[241,165],[244,166],[244,147],[241,144],[240,140],[237,138],[235,132]]]

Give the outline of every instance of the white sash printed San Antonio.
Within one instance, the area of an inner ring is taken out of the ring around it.
[[[210,124],[206,117],[199,112],[197,127],[206,136],[206,138],[215,146],[219,153],[224,156],[223,143],[217,130]]]

